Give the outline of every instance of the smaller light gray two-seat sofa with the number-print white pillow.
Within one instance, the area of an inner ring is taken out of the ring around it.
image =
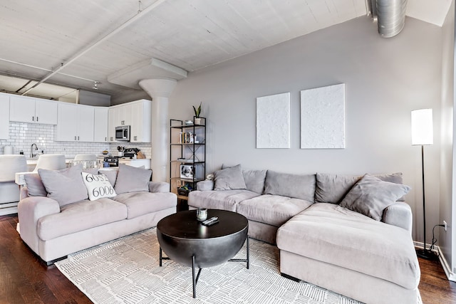
[[[177,196],[169,184],[150,182],[150,170],[121,165],[118,171],[88,171],[79,165],[25,176],[21,239],[48,264],[156,226],[176,212]]]

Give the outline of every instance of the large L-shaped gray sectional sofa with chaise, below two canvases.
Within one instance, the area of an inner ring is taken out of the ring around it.
[[[402,174],[371,176],[214,172],[189,207],[225,209],[249,220],[249,236],[276,243],[283,276],[364,303],[419,303],[420,267]]]

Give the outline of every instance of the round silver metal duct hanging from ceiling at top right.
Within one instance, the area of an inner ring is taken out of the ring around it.
[[[372,0],[372,2],[373,18],[377,19],[380,36],[390,38],[400,33],[405,24],[407,0]]]

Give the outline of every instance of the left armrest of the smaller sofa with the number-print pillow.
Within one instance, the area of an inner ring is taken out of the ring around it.
[[[29,196],[21,199],[17,206],[19,233],[21,239],[39,255],[38,220],[49,214],[58,214],[60,206],[54,199],[46,196]]]

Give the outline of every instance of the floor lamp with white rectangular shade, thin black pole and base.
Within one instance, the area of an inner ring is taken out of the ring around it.
[[[432,145],[433,142],[432,128],[432,109],[421,109],[412,111],[412,145],[421,146],[421,172],[423,179],[423,249],[417,250],[420,258],[427,260],[436,258],[435,254],[426,249],[426,204],[425,204],[425,158],[424,146]]]

